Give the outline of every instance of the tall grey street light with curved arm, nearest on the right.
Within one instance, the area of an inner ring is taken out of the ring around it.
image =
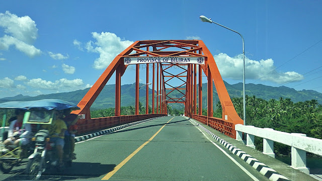
[[[237,33],[237,34],[241,37],[241,40],[243,40],[243,104],[244,104],[244,105],[243,105],[243,108],[244,108],[244,125],[246,125],[246,101],[245,101],[245,45],[244,45],[244,38],[243,38],[243,36],[242,36],[240,33],[236,32],[236,31],[234,31],[234,30],[232,30],[232,29],[230,29],[230,28],[227,28],[227,27],[225,27],[225,26],[223,26],[223,25],[220,25],[220,24],[218,24],[218,23],[216,23],[216,22],[213,22],[211,19],[208,19],[208,18],[207,18],[207,17],[205,17],[205,16],[200,16],[199,18],[200,18],[200,20],[201,20],[202,22],[214,23],[214,24],[219,25],[219,26],[221,26],[221,27],[223,27],[223,28],[226,28],[226,29],[228,29],[228,30],[230,30],[230,31],[233,31],[233,32]]]

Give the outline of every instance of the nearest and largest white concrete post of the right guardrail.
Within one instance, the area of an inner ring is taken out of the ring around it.
[[[292,136],[306,136],[306,134],[301,133],[291,133]],[[306,167],[306,151],[295,148],[292,146],[291,149],[291,167],[298,169],[306,174],[309,174],[309,168]]]

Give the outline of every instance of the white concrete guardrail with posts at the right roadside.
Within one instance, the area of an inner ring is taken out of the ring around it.
[[[263,153],[275,158],[274,142],[291,146],[291,167],[309,174],[306,167],[306,152],[322,156],[322,140],[306,137],[302,133],[285,133],[272,128],[257,128],[254,126],[235,126],[236,140],[243,141],[246,133],[246,145],[255,149],[254,136],[263,138]]]

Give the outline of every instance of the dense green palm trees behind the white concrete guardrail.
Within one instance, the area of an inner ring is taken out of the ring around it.
[[[243,118],[243,98],[231,99],[240,118]],[[214,116],[220,115],[220,102]],[[291,99],[269,101],[246,96],[246,124],[259,128],[273,128],[287,133],[303,133],[307,137],[322,139],[322,106],[316,100],[293,103]],[[255,137],[257,149],[263,149],[263,139]],[[276,154],[288,155],[291,147],[274,143]]]

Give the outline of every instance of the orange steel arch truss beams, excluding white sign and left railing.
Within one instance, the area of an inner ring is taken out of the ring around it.
[[[175,51],[173,51],[175,49]],[[123,52],[117,55],[106,70],[102,73],[99,79],[90,88],[84,98],[78,103],[78,107],[81,110],[74,111],[75,114],[85,114],[85,120],[91,120],[90,107],[98,97],[104,86],[106,85],[109,78],[114,72],[116,72],[116,93],[115,93],[115,115],[120,116],[120,103],[121,103],[121,76],[124,74],[128,66],[124,65],[124,57],[133,56],[203,56],[205,57],[205,64],[199,65],[199,75],[197,76],[197,66],[192,64],[179,64],[179,63],[150,63],[153,65],[152,75],[152,113],[154,113],[154,102],[156,98],[156,114],[166,114],[168,103],[183,103],[185,105],[185,114],[189,117],[193,117],[199,121],[203,121],[205,124],[220,130],[221,132],[234,137],[234,125],[243,124],[243,120],[237,115],[228,92],[225,88],[217,65],[213,56],[211,55],[208,48],[201,40],[143,40],[136,41]],[[155,74],[155,64],[156,74]],[[147,64],[148,65],[148,64]],[[136,103],[135,113],[138,112],[138,92],[139,92],[139,69],[138,65],[136,69]],[[170,72],[171,67],[179,67],[182,69],[180,73]],[[184,67],[187,68],[184,68]],[[202,109],[199,109],[197,115],[197,77],[198,77],[198,107],[202,108],[202,72],[208,78],[208,115],[207,117],[202,116]],[[148,70],[146,71],[146,83],[148,83]],[[156,77],[155,77],[156,76]],[[154,85],[156,78],[156,96],[154,96]],[[171,85],[170,80],[178,79],[183,82],[180,86]],[[216,91],[222,106],[222,118],[213,118],[212,110],[212,83],[216,87]],[[183,88],[185,87],[185,88]],[[185,92],[182,91],[185,89]],[[178,92],[182,97],[171,97],[171,93]],[[161,95],[161,96],[160,96]],[[148,85],[146,85],[146,107],[148,107]],[[148,108],[146,112],[148,113]],[[211,118],[211,119],[210,119]],[[206,120],[206,121],[205,121]],[[217,121],[216,121],[217,120]],[[220,124],[219,124],[220,122]],[[87,122],[82,122],[87,123]],[[224,125],[220,128],[217,125]]]

